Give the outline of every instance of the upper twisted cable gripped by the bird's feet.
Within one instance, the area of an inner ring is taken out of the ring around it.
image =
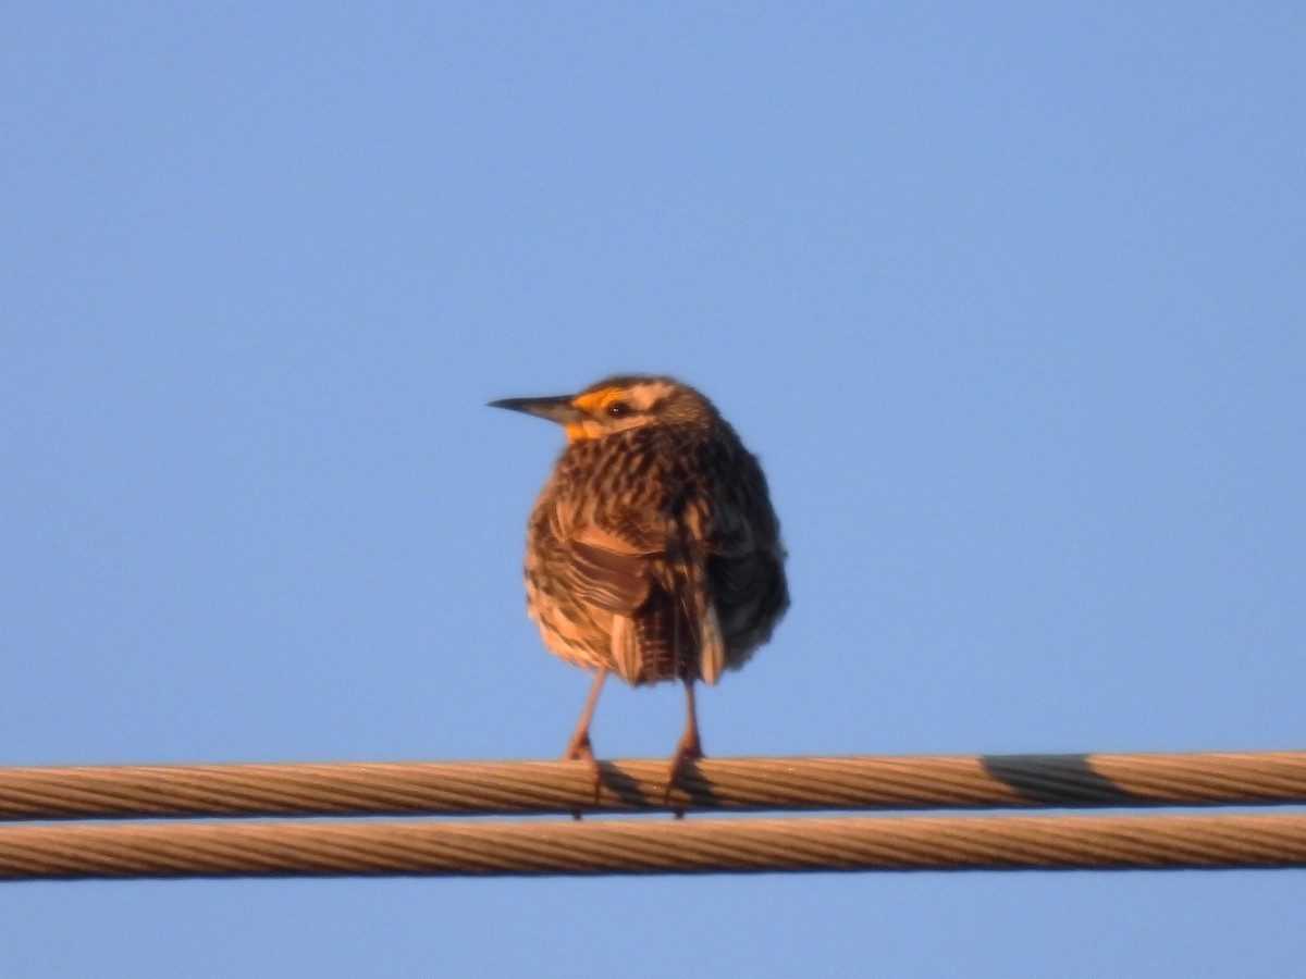
[[[0,769],[0,820],[471,816],[666,809],[667,764],[577,761]],[[1306,752],[707,758],[678,811],[1306,803]]]

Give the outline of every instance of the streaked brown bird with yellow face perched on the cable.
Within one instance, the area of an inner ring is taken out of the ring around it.
[[[504,398],[567,445],[526,529],[526,610],[545,646],[594,674],[563,758],[602,771],[589,736],[609,675],[679,681],[686,724],[667,796],[704,757],[693,688],[767,642],[789,607],[786,552],[761,466],[687,384],[616,375],[577,394]]]

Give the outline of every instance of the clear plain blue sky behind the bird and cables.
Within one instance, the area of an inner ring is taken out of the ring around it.
[[[1293,4],[9,4],[0,764],[541,758],[560,446],[682,376],[794,604],[709,753],[1306,748]],[[610,685],[609,757],[671,687]],[[0,886],[14,975],[1299,969],[1302,873]]]

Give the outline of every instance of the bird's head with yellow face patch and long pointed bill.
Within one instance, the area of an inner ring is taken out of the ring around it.
[[[602,439],[648,424],[712,424],[712,402],[671,377],[620,375],[592,384],[579,394],[547,398],[504,398],[490,407],[547,418],[567,429],[568,441]]]

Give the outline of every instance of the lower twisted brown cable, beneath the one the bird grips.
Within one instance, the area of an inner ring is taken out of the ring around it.
[[[1306,815],[0,828],[0,878],[1306,865]]]

